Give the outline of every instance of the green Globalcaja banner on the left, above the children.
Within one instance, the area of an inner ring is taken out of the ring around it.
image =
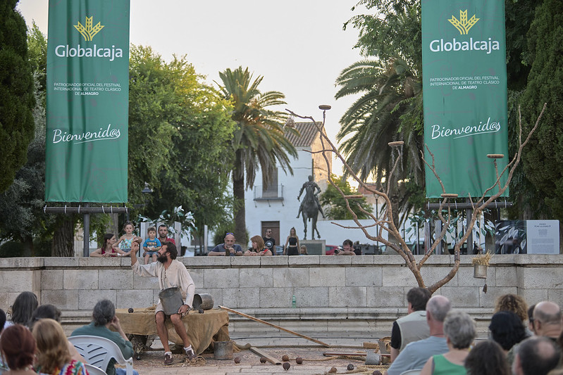
[[[129,0],[49,0],[45,201],[127,202]]]

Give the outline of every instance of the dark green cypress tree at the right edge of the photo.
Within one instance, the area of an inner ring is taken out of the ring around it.
[[[524,151],[524,172],[544,197],[555,219],[563,219],[563,3],[545,0],[528,32],[531,70],[521,96],[524,134],[547,110]]]

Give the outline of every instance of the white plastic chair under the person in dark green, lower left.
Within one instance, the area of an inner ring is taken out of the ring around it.
[[[113,341],[99,336],[70,336],[68,341],[73,343],[89,364],[105,371],[109,360],[113,358],[118,364],[125,364],[127,375],[133,375],[133,358],[125,360],[118,345]]]

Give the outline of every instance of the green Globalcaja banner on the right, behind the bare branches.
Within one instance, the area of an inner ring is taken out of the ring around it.
[[[480,197],[497,179],[487,155],[504,155],[497,160],[501,171],[508,160],[505,3],[421,4],[424,142],[446,193]],[[426,148],[424,155],[431,163]],[[426,167],[426,196],[441,193]]]

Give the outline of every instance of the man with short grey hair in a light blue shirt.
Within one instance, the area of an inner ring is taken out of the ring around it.
[[[430,327],[430,336],[409,343],[392,362],[386,374],[400,375],[407,370],[421,369],[432,355],[447,352],[444,319],[451,308],[452,303],[443,295],[434,295],[428,300],[428,303],[426,303],[426,322]]]

